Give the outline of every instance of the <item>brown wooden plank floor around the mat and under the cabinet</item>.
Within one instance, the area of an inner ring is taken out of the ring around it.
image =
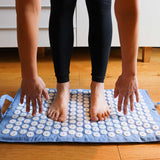
[[[21,84],[20,62],[15,50],[0,50],[0,96],[15,96]],[[89,89],[91,63],[88,49],[75,48],[71,59],[71,88]],[[48,88],[56,87],[49,51],[38,58],[38,72]],[[114,88],[121,73],[120,49],[111,50],[105,89]],[[139,88],[147,89],[153,102],[160,101],[160,49],[154,48],[150,63],[138,56]],[[7,108],[5,103],[3,112]],[[159,108],[157,107],[159,110]],[[160,113],[160,112],[159,112]],[[160,160],[160,144],[93,145],[93,144],[7,144],[0,143],[0,160]]]

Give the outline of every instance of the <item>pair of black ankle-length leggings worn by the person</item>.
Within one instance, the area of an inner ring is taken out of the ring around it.
[[[68,82],[77,0],[50,0],[49,38],[58,83]],[[112,39],[111,0],[86,0],[92,80],[104,82]],[[83,66],[82,66],[83,67]]]

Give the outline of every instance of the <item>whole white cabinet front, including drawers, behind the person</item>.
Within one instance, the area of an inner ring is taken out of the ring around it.
[[[117,22],[112,0],[112,46],[119,46]],[[160,0],[140,2],[139,46],[160,47]],[[49,47],[48,24],[50,0],[41,0],[38,46]],[[0,47],[17,47],[15,0],[0,0]],[[88,46],[88,13],[85,0],[77,0],[74,14],[74,46]]]

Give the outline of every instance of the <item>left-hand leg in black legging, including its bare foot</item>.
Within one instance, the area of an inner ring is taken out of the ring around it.
[[[48,117],[55,121],[65,121],[68,113],[75,5],[76,0],[51,0],[49,38],[57,78],[57,94],[48,110]]]

